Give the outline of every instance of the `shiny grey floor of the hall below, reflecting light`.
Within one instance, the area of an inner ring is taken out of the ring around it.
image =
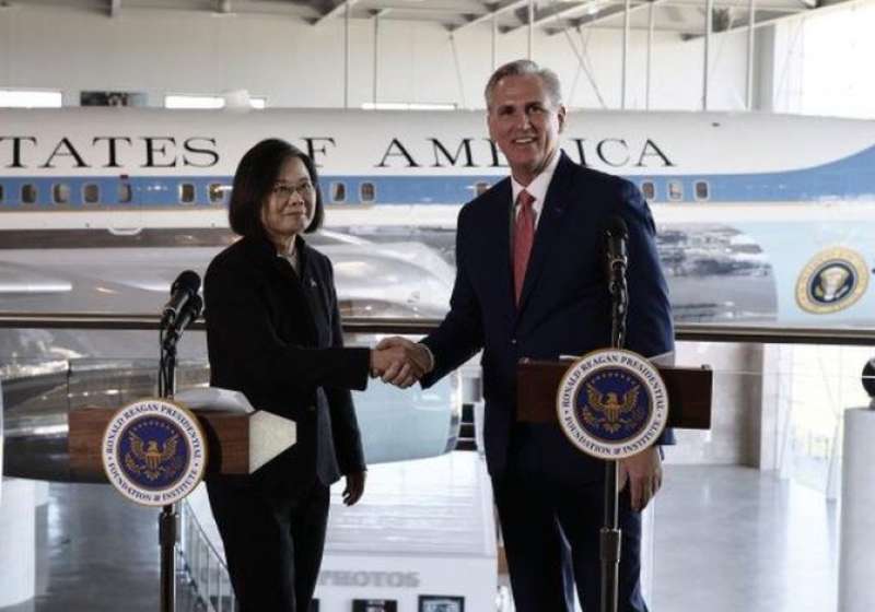
[[[40,592],[0,612],[158,610],[156,511],[102,485],[52,484],[49,496]],[[655,525],[652,611],[836,610],[837,507],[819,492],[752,469],[669,466]],[[180,612],[194,610],[180,596]]]

